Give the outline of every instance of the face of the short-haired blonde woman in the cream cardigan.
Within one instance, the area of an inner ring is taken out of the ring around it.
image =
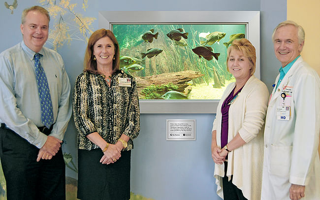
[[[250,61],[241,51],[231,50],[228,57],[229,72],[235,77],[236,81],[247,81],[250,74]]]

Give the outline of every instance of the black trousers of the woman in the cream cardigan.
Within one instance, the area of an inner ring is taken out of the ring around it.
[[[227,167],[228,162],[224,162],[224,177],[222,178],[224,200],[247,200],[243,196],[242,191],[232,183],[232,175],[230,181],[228,181],[228,177],[226,176]]]

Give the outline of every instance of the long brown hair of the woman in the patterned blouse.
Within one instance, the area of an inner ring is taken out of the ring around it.
[[[89,71],[95,72],[97,70],[96,61],[94,60],[94,53],[93,53],[94,52],[94,45],[96,44],[96,41],[98,41],[102,37],[106,37],[106,36],[112,40],[114,47],[115,47],[115,54],[114,54],[115,60],[112,60],[112,69],[113,69],[113,71],[116,71],[119,69],[120,49],[119,49],[118,41],[117,41],[116,37],[114,36],[114,34],[110,30],[99,29],[99,30],[95,31],[94,33],[92,33],[92,35],[89,38],[86,53],[85,53],[85,59],[83,62],[84,71],[89,70]]]

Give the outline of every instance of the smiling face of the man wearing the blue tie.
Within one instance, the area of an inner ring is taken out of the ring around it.
[[[46,15],[32,10],[20,25],[23,41],[34,52],[39,52],[48,39],[49,19]]]

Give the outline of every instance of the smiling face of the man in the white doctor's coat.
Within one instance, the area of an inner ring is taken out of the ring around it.
[[[274,52],[282,67],[300,55],[304,41],[299,44],[298,30],[293,25],[285,25],[277,29],[274,34]]]

